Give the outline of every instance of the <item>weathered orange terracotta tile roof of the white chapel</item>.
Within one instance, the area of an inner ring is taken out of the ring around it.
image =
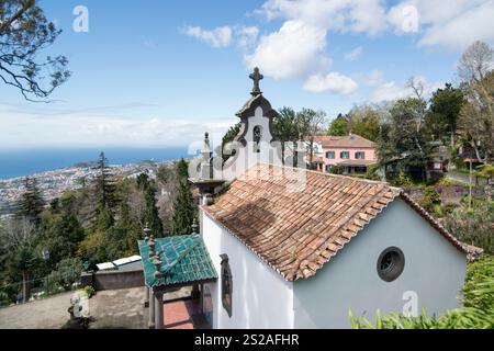
[[[296,176],[306,179],[297,182]],[[398,196],[467,253],[401,189],[384,182],[258,163],[202,208],[285,280],[294,281],[314,275]]]

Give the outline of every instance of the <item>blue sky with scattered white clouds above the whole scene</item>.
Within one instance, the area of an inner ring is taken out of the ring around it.
[[[323,109],[456,81],[475,39],[494,43],[494,1],[41,0],[63,34],[46,54],[74,72],[50,104],[0,86],[0,147],[187,146],[218,139],[248,99],[251,67],[274,107]],[[83,5],[89,32],[76,33]]]

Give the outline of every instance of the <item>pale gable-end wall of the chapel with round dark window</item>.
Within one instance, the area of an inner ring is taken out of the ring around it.
[[[405,269],[388,283],[379,278],[377,261],[391,246],[403,251]],[[294,326],[350,328],[350,307],[375,320],[378,309],[402,312],[407,291],[417,293],[419,313],[425,307],[428,314],[441,314],[459,306],[465,267],[462,252],[396,200],[313,278],[294,282]]]

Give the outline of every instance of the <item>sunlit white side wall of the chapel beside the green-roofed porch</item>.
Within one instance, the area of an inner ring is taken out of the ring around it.
[[[213,328],[293,328],[293,284],[263,263],[237,238],[202,213],[203,238],[220,278],[209,284]],[[221,301],[221,258],[228,256],[233,276],[232,317]]]

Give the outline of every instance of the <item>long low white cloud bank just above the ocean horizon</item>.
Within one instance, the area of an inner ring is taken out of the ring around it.
[[[91,111],[98,110],[98,113]],[[137,115],[138,113],[136,113]],[[40,114],[0,105],[0,148],[89,146],[184,146],[201,140],[204,131],[223,135],[232,121],[143,118],[108,114],[100,109]]]

